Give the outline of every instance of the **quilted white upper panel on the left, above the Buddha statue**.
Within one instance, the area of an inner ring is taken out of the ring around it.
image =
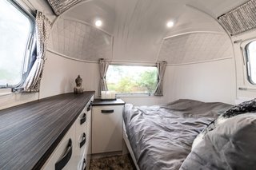
[[[112,39],[93,26],[59,18],[50,34],[49,49],[84,61],[111,60]]]

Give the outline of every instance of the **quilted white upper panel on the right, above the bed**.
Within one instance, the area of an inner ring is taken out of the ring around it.
[[[226,34],[191,33],[164,39],[158,61],[175,65],[232,56],[232,45]]]

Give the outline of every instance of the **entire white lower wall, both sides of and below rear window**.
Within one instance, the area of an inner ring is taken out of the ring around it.
[[[98,97],[99,72],[97,63],[74,61],[57,54],[46,53],[39,98],[73,92],[74,79],[81,75],[85,90],[95,90]],[[164,97],[122,97],[134,105],[158,105],[180,98],[199,101],[222,101],[234,104],[234,58],[190,65],[166,67]],[[38,93],[11,93],[0,96],[0,109],[38,99]]]

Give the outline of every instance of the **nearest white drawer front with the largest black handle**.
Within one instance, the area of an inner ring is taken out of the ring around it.
[[[55,148],[54,152],[51,154],[50,158],[46,161],[46,164],[42,167],[44,170],[55,170],[62,168],[63,170],[74,169],[74,139],[75,139],[75,128],[72,126],[66,135],[62,138],[61,142]],[[62,163],[63,164],[62,164]],[[58,164],[58,165],[57,165]],[[62,165],[61,165],[62,164]]]

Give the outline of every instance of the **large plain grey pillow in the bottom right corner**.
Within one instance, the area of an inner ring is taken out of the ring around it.
[[[255,169],[256,114],[228,119],[208,132],[180,169]]]

